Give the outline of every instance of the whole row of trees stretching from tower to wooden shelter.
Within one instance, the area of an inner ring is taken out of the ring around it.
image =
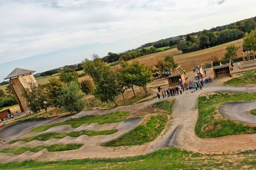
[[[101,102],[114,102],[117,105],[116,97],[119,94],[122,94],[125,103],[126,88],[131,88],[134,96],[134,86],[143,88],[147,94],[146,85],[152,81],[151,69],[140,62],[129,64],[121,61],[121,68],[113,71],[97,54],[93,54],[93,60],[84,59],[82,67],[93,83],[89,80],[79,83],[76,71],[67,68],[61,71],[59,78],[49,79],[45,86],[30,84],[30,88],[25,88],[23,96],[29,108],[35,113],[45,110],[47,116],[49,107],[62,108],[70,113],[80,112],[86,106],[85,94],[92,94]]]

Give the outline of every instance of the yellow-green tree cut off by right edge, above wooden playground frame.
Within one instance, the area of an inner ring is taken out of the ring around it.
[[[256,51],[256,29],[251,31],[250,34],[245,33],[243,48]]]

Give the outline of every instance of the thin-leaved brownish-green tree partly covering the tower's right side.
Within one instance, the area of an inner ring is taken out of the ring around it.
[[[28,107],[33,112],[36,113],[44,109],[45,112],[47,113],[47,116],[49,117],[47,109],[50,104],[49,104],[49,100],[47,99],[47,94],[41,85],[38,85],[35,83],[29,83],[29,88],[24,89],[23,96],[26,98],[26,101],[29,103]]]

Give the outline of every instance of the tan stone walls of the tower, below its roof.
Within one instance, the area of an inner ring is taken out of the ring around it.
[[[29,108],[27,107],[26,98],[22,96],[22,93],[24,91],[24,88],[29,88],[29,83],[38,84],[33,74],[27,74],[22,77],[10,79],[10,82],[15,92],[17,102],[20,105],[20,110],[22,112],[29,110]]]

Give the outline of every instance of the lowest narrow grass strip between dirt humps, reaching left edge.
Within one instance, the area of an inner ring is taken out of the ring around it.
[[[52,144],[50,146],[37,146],[37,147],[16,147],[16,148],[6,148],[1,150],[2,153],[13,153],[16,155],[19,155],[21,153],[24,153],[26,151],[31,152],[38,152],[44,148],[46,148],[49,152],[56,152],[56,151],[64,151],[64,150],[74,150],[79,149],[82,147],[83,144]]]

